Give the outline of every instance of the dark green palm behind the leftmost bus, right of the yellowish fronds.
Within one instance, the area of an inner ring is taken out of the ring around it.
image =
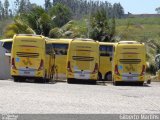
[[[28,13],[21,13],[17,18],[32,28],[36,34],[48,36],[51,18],[42,7],[34,4]]]

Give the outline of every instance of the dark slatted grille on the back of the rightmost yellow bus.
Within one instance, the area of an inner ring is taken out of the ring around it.
[[[121,64],[139,64],[141,59],[120,59]]]

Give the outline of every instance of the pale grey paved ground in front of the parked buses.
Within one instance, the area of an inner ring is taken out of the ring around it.
[[[160,83],[141,87],[0,80],[0,113],[160,114]]]

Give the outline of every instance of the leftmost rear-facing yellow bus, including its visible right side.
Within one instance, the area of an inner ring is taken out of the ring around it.
[[[11,76],[15,82],[35,79],[48,82],[53,77],[54,51],[41,35],[15,35],[11,50]]]

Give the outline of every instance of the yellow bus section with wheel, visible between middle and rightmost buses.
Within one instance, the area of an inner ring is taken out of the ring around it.
[[[112,81],[112,57],[114,43],[99,42],[100,66],[99,80]]]

